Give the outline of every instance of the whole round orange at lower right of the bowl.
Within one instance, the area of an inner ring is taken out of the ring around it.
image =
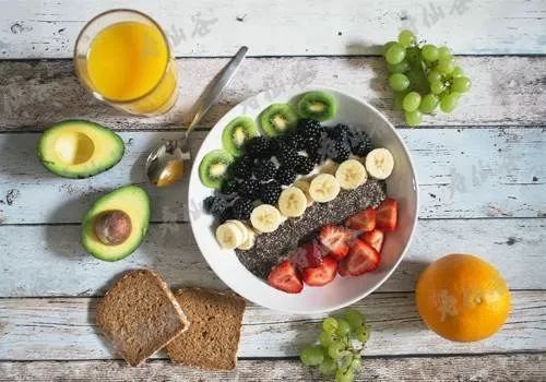
[[[496,333],[510,311],[499,272],[471,254],[448,254],[419,276],[415,293],[425,324],[444,338],[472,342]]]

